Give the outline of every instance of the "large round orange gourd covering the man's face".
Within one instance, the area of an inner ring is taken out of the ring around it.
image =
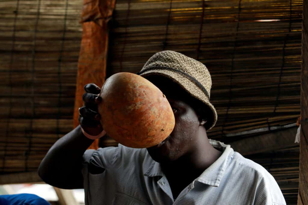
[[[164,94],[134,73],[116,73],[104,83],[98,111],[109,136],[132,148],[159,144],[172,132],[175,119]]]

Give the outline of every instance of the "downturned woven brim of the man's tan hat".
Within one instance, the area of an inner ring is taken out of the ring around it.
[[[179,84],[188,94],[190,94],[192,97],[195,97],[202,103],[204,103],[207,107],[210,108],[212,111],[212,116],[208,117],[207,121],[207,129],[210,130],[213,128],[217,122],[217,112],[214,106],[209,102],[209,98],[205,95],[205,93],[191,80],[189,80],[187,77],[184,77],[180,73],[173,72],[172,70],[148,70],[140,76],[142,77],[147,77],[150,75],[161,75],[164,77],[170,78],[172,81],[176,82]]]

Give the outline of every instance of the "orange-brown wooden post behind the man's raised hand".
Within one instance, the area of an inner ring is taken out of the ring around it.
[[[84,0],[81,15],[82,40],[76,81],[74,127],[79,125],[78,108],[83,106],[84,85],[95,83],[102,86],[106,78],[108,50],[107,23],[111,18],[115,0]],[[89,147],[98,148],[98,140]]]

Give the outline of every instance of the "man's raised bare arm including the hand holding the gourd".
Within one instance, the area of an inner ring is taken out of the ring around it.
[[[38,174],[48,184],[63,188],[83,188],[83,175],[81,173],[83,153],[93,143],[83,135],[83,130],[96,136],[102,132],[100,115],[97,104],[101,98],[97,95],[100,89],[95,84],[84,87],[84,106],[79,108],[80,125],[55,142],[39,165]]]

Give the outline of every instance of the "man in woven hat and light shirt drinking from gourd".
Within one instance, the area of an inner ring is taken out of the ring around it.
[[[87,150],[104,134],[97,104],[99,87],[85,86],[81,126],[59,139],[39,167],[47,183],[85,189],[86,204],[286,204],[274,178],[263,167],[209,140],[217,121],[210,103],[212,86],[201,62],[174,51],[153,55],[139,73],[166,95],[175,127],[147,149]]]

